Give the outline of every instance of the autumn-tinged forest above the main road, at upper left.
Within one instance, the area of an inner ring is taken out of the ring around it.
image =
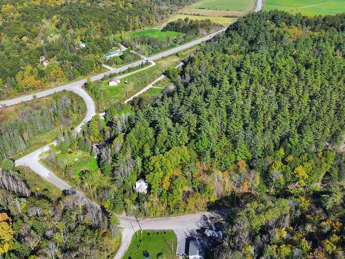
[[[152,26],[190,2],[0,0],[0,98],[100,70],[121,33]]]

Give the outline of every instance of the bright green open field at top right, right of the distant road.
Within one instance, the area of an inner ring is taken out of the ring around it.
[[[302,15],[336,15],[345,12],[344,0],[265,0],[264,10],[284,10]]]

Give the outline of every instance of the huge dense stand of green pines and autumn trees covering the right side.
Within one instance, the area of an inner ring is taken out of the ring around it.
[[[98,157],[81,188],[110,213],[236,206],[216,258],[343,258],[344,21],[239,19],[169,70],[175,91],[92,119],[68,146]]]

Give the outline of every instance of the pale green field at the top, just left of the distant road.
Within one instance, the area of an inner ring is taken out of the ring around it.
[[[201,0],[193,3],[189,8],[228,10],[234,12],[246,12],[252,8],[254,0]]]

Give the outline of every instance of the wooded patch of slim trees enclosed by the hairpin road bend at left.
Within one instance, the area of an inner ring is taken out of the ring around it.
[[[39,138],[52,140],[63,131],[77,126],[86,112],[83,99],[74,93],[55,93],[0,109],[0,165],[4,158],[22,155],[33,144],[44,143]],[[54,131],[58,128],[57,131]],[[52,142],[52,140],[50,140]],[[37,146],[37,148],[41,147]]]

